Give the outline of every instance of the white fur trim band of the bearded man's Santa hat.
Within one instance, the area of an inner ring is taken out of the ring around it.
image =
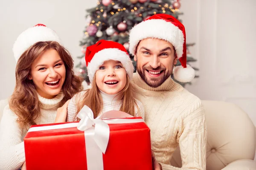
[[[134,55],[140,40],[158,38],[170,42],[176,50],[177,57],[183,54],[184,35],[182,31],[171,22],[162,19],[145,20],[131,29],[129,34],[129,52]]]

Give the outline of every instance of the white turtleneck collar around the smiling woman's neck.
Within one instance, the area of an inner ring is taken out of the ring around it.
[[[62,91],[53,99],[46,99],[38,94],[38,99],[41,102],[43,109],[54,108],[59,104],[59,102],[61,102],[63,98],[64,98],[64,94]]]

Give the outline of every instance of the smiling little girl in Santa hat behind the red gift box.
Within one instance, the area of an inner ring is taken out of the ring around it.
[[[134,67],[123,45],[99,40],[87,47],[85,61],[91,88],[70,100],[67,122],[76,121],[84,105],[93,111],[94,118],[106,111],[119,110],[144,119],[143,105],[134,98],[135,89],[131,83]]]

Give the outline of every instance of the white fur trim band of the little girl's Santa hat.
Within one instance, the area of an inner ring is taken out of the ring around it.
[[[99,69],[99,66],[102,65],[105,61],[111,59],[120,61],[124,66],[129,78],[132,79],[134,66],[132,64],[130,56],[124,51],[119,50],[118,48],[105,48],[94,54],[93,58],[88,63],[87,71],[90,82],[93,82],[94,74]]]

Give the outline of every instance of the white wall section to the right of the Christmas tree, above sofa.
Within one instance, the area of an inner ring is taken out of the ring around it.
[[[256,1],[182,0],[200,78],[186,88],[201,99],[239,105],[256,125]]]

